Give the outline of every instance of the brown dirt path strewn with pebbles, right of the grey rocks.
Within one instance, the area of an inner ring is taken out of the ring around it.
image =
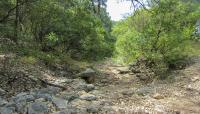
[[[109,101],[115,113],[200,113],[200,58],[174,72],[172,79],[147,85],[134,74],[119,74],[126,67],[104,63],[97,68],[104,75],[97,81],[98,92],[93,94]]]

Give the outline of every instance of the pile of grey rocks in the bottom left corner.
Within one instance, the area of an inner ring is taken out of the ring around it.
[[[77,81],[77,79],[74,79]],[[94,85],[86,84],[82,89],[61,91],[47,87],[31,92],[19,93],[9,100],[0,97],[0,114],[88,114],[98,113],[104,103],[91,93]],[[80,82],[79,86],[83,83]],[[89,87],[89,88],[88,88]],[[92,88],[91,88],[92,87]],[[87,92],[85,90],[88,90]]]

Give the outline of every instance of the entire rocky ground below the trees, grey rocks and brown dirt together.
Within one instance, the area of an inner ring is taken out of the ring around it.
[[[194,61],[167,80],[147,84],[111,62],[73,76],[38,66],[5,67],[0,114],[199,114],[200,59]]]

